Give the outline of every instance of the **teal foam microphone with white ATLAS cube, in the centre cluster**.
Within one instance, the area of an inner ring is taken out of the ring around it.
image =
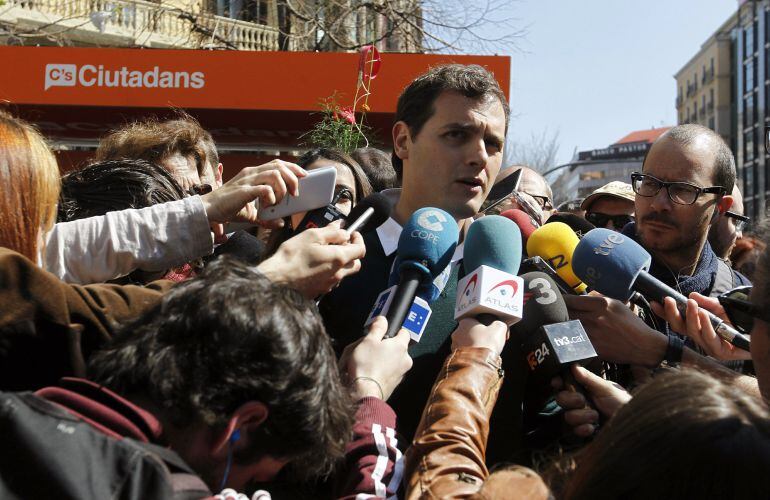
[[[512,325],[521,319],[524,282],[516,273],[521,264],[521,232],[511,220],[487,215],[468,229],[463,268],[472,269],[457,282],[455,319],[478,317],[489,325],[499,319]]]

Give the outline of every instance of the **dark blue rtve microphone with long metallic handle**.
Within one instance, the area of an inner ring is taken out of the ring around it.
[[[665,297],[676,301],[684,315],[687,297],[653,277],[648,271],[652,257],[631,238],[597,228],[586,234],[573,255],[575,273],[591,288],[623,302],[634,292],[663,303]],[[749,350],[749,339],[733,327],[706,311],[714,331],[735,347]]]

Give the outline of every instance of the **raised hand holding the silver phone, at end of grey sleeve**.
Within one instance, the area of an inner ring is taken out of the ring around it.
[[[219,189],[201,196],[212,224],[223,222],[257,223],[257,207],[279,203],[284,196],[299,194],[299,179],[307,171],[294,163],[273,160],[258,167],[246,167]]]

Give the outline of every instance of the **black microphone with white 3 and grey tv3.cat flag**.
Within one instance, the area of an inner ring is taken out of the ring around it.
[[[511,328],[511,336],[521,343],[530,377],[543,384],[561,375],[574,386],[570,365],[596,357],[591,340],[580,321],[570,321],[564,297],[545,273],[526,273],[524,280],[524,319]]]

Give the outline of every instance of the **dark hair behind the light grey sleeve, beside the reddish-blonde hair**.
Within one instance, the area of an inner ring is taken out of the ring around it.
[[[185,193],[165,169],[145,160],[93,163],[62,177],[59,222],[181,200]]]

